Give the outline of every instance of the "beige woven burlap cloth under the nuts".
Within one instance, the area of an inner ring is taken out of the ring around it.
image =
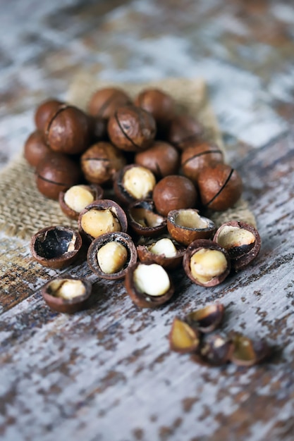
[[[73,80],[67,101],[80,108],[86,108],[94,90],[106,85],[110,83],[81,73]],[[179,110],[197,116],[206,128],[207,137],[213,139],[225,151],[203,80],[171,78],[140,84],[125,83],[119,86],[133,97],[145,87],[159,87],[168,92],[178,102]],[[233,219],[255,225],[255,217],[242,199],[232,209],[212,214],[212,218],[217,226]],[[76,227],[77,223],[63,215],[57,201],[51,201],[37,191],[34,170],[20,155],[8,163],[0,173],[0,230],[7,235],[30,239],[35,232],[49,225]]]

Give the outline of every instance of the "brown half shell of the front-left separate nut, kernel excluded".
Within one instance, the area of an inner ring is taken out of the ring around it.
[[[60,297],[55,297],[50,292],[50,285],[51,282],[53,282],[54,280],[80,280],[85,286],[85,294],[75,297],[74,299],[61,299]],[[51,309],[62,313],[75,313],[77,311],[85,309],[85,306],[87,305],[87,300],[89,299],[92,292],[92,283],[89,280],[85,278],[75,278],[71,275],[62,275],[61,277],[54,280],[50,280],[49,282],[47,282],[41,289],[42,297]]]

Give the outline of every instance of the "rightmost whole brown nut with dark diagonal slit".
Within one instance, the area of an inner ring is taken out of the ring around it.
[[[242,179],[237,170],[223,163],[204,168],[197,183],[203,206],[214,211],[231,208],[243,191]]]

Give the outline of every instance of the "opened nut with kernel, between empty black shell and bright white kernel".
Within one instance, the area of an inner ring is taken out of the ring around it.
[[[137,249],[125,232],[108,232],[90,244],[87,262],[93,273],[104,279],[122,279],[137,261]]]

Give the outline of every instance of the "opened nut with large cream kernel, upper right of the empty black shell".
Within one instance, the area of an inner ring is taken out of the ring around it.
[[[125,212],[111,199],[98,199],[80,212],[78,228],[87,240],[96,239],[106,232],[126,232],[128,221]]]

